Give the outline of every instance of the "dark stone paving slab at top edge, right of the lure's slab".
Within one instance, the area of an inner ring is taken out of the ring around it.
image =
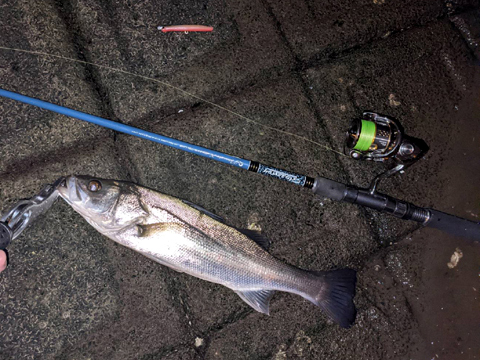
[[[268,1],[301,61],[334,56],[372,40],[436,20],[443,1]],[[291,11],[295,9],[295,11]]]

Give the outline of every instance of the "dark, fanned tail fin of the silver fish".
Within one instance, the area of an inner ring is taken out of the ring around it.
[[[357,310],[353,303],[357,273],[352,269],[333,271],[313,271],[321,278],[319,288],[312,301],[321,307],[327,315],[343,328],[349,328],[355,321]],[[319,279],[320,280],[320,279]]]

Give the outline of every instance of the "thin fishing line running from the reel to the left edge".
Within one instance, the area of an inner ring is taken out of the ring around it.
[[[326,146],[324,144],[321,144],[319,142],[316,142],[314,140],[310,140],[304,136],[300,136],[300,135],[297,135],[297,134],[294,134],[294,133],[291,133],[289,131],[285,131],[285,130],[281,130],[281,129],[277,129],[273,126],[269,126],[269,125],[265,125],[265,124],[262,124],[261,122],[258,122],[256,120],[253,120],[253,119],[250,119],[249,117],[246,117],[242,114],[239,114],[233,110],[230,110],[224,106],[221,106],[221,105],[218,105],[214,102],[211,102],[207,99],[204,99],[198,95],[195,95],[191,92],[188,92],[186,90],[183,90],[177,86],[174,86],[172,84],[169,84],[165,81],[161,81],[161,80],[158,80],[158,79],[155,79],[155,78],[151,78],[151,77],[148,77],[148,76],[145,76],[145,75],[140,75],[140,74],[136,74],[136,73],[133,73],[133,72],[130,72],[130,71],[127,71],[127,70],[122,70],[122,69],[118,69],[118,68],[114,68],[114,67],[111,67],[111,66],[108,66],[108,65],[102,65],[102,64],[95,64],[95,63],[92,63],[92,62],[89,62],[89,61],[84,61],[84,60],[79,60],[79,59],[74,59],[74,58],[70,58],[70,57],[66,57],[66,56],[63,56],[63,55],[55,55],[55,54],[49,54],[49,53],[44,53],[44,52],[41,52],[41,51],[32,51],[32,50],[24,50],[24,49],[18,49],[18,48],[10,48],[10,47],[5,47],[5,46],[0,46],[0,49],[1,50],[8,50],[8,51],[16,51],[16,52],[21,52],[21,53],[25,53],[25,54],[30,54],[30,55],[37,55],[37,56],[45,56],[45,57],[53,57],[53,58],[57,58],[57,59],[61,59],[61,60],[66,60],[66,61],[71,61],[71,62],[76,62],[76,63],[80,63],[80,64],[85,64],[85,65],[91,65],[91,66],[95,66],[95,67],[98,67],[98,68],[101,68],[101,69],[106,69],[106,70],[109,70],[109,71],[114,71],[114,72],[119,72],[119,73],[122,73],[122,74],[125,74],[125,75],[130,75],[130,76],[134,76],[134,77],[138,77],[138,78],[141,78],[141,79],[144,79],[144,80],[149,80],[149,81],[153,81],[153,82],[156,82],[158,84],[161,84],[163,86],[166,86],[166,87],[169,87],[173,90],[176,90],[178,92],[181,92],[182,94],[184,95],[187,95],[187,96],[190,96],[194,99],[197,99],[197,100],[200,100],[206,104],[209,104],[211,106],[214,106],[218,109],[221,109],[223,111],[226,111],[232,115],[235,115],[237,117],[239,117],[240,119],[243,119],[247,122],[250,122],[250,123],[253,123],[255,125],[258,125],[258,126],[261,126],[263,128],[266,128],[266,129],[269,129],[271,131],[277,131],[279,133],[282,133],[282,134],[285,134],[285,135],[288,135],[288,136],[293,136],[297,139],[300,139],[300,140],[303,140],[303,141],[306,141],[306,142],[309,142],[309,143],[312,143],[324,150],[327,150],[327,151],[332,151],[334,153],[336,153],[337,155],[340,155],[340,156],[345,156],[345,154],[335,150],[335,149],[332,149],[330,148],[329,146]]]

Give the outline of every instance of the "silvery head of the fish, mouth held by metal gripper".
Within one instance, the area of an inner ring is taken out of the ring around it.
[[[137,187],[131,183],[71,175],[58,192],[101,233],[139,224],[148,216]]]

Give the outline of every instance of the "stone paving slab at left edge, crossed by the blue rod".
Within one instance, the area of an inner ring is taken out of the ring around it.
[[[8,41],[1,45],[27,50],[48,47],[73,56],[65,26],[49,3],[3,6],[0,17],[8,24],[3,31]],[[44,36],[46,29],[51,36]],[[102,115],[97,94],[79,64],[2,50],[0,73],[3,89]],[[113,132],[98,126],[4,98],[0,108],[0,193],[4,200],[38,192],[43,184],[65,175],[68,165],[79,161],[82,152],[85,156],[96,147],[113,147]],[[5,198],[6,192],[10,198]]]

